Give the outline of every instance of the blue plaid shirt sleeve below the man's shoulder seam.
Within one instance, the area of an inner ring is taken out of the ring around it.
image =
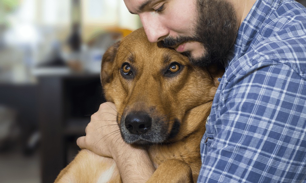
[[[305,182],[305,77],[269,62],[226,82],[198,182]]]

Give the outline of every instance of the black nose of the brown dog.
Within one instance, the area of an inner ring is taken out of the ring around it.
[[[147,113],[132,112],[125,117],[125,127],[132,134],[144,134],[151,127],[151,117]]]

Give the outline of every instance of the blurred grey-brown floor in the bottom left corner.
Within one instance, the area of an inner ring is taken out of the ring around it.
[[[19,151],[0,153],[1,183],[40,183],[39,153],[24,156]]]

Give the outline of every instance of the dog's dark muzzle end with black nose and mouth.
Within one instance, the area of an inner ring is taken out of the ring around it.
[[[151,117],[144,112],[132,112],[121,118],[121,136],[125,142],[136,145],[166,143],[179,129],[178,119]]]

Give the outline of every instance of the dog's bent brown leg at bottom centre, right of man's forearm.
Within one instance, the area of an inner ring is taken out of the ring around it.
[[[159,165],[147,183],[193,183],[190,166],[182,160],[171,159]]]

